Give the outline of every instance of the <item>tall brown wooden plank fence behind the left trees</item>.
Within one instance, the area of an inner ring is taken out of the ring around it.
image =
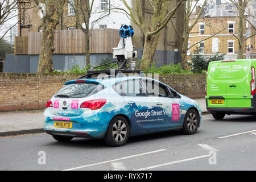
[[[90,53],[112,53],[112,47],[119,42],[117,29],[101,28],[90,32]],[[39,55],[41,32],[28,34],[28,54]],[[84,53],[85,35],[81,30],[56,30],[54,39],[54,53],[72,54]]]

